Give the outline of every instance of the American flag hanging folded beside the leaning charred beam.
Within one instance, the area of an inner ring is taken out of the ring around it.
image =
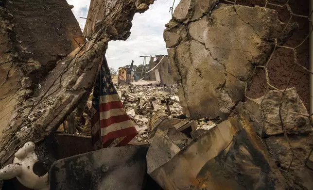
[[[104,57],[93,89],[91,134],[95,149],[123,146],[137,134],[123,108]]]

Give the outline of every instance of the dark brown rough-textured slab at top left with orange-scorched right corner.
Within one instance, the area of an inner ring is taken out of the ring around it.
[[[86,42],[66,0],[10,0],[5,9],[15,16],[14,41],[22,47],[17,52],[30,52],[40,65],[46,66]]]

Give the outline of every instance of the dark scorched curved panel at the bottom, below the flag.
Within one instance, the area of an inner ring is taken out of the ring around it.
[[[50,170],[50,189],[141,190],[146,180],[148,147],[104,148],[58,160]]]

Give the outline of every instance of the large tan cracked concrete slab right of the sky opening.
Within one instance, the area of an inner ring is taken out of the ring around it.
[[[163,33],[179,99],[192,119],[227,118],[244,97],[244,82],[255,65],[263,65],[273,38],[285,27],[278,13],[263,7],[184,0]],[[287,27],[283,43],[296,29]]]

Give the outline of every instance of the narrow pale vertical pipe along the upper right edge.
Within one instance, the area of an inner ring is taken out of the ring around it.
[[[310,0],[310,13],[313,10],[313,0]],[[313,20],[313,15],[311,15],[311,20]],[[310,24],[311,26],[311,24]],[[311,31],[311,27],[308,32]],[[310,51],[309,51],[309,57],[310,57],[310,71],[313,72],[313,37],[310,35]],[[310,115],[313,113],[313,76],[310,73]]]

